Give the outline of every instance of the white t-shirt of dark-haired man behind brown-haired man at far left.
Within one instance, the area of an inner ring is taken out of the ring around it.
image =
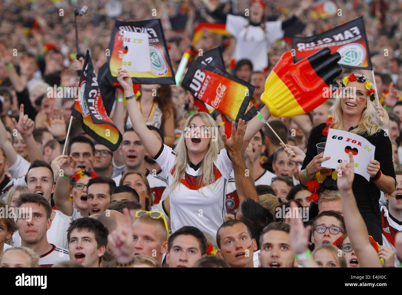
[[[72,217],[63,214],[59,210],[54,211],[56,214],[51,222],[50,228],[47,230],[47,241],[53,245],[60,245],[57,247],[68,248],[67,230],[72,221]],[[15,232],[14,235],[14,246],[21,246],[21,236],[18,231]]]

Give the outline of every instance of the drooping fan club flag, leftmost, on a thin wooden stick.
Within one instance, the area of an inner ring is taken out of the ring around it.
[[[113,121],[107,116],[103,106],[88,50],[82,68],[78,97],[72,107],[72,116],[81,121],[82,129],[97,142],[112,151],[119,147],[122,136]]]

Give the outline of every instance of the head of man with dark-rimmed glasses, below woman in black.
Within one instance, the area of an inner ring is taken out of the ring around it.
[[[313,222],[311,242],[317,248],[322,244],[332,244],[345,233],[343,217],[332,210],[323,211]]]

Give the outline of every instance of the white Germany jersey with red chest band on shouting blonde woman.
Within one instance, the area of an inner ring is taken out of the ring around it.
[[[173,182],[176,153],[166,144],[154,158],[167,175],[168,185]],[[225,149],[219,151],[214,164],[215,179],[210,185],[197,190],[201,164],[187,164],[181,183],[170,189],[170,220],[172,232],[183,226],[195,226],[212,236],[225,220],[226,185],[233,170],[232,161]]]

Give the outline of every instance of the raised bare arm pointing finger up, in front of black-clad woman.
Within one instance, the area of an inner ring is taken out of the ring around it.
[[[355,177],[355,163],[352,153],[349,152],[349,163],[341,163],[337,167],[338,175],[336,184],[342,197],[343,218],[345,218],[346,230],[356,256],[359,259],[360,267],[382,267],[377,252],[371,246],[369,233],[361,216],[355,196],[352,191],[352,183]]]

